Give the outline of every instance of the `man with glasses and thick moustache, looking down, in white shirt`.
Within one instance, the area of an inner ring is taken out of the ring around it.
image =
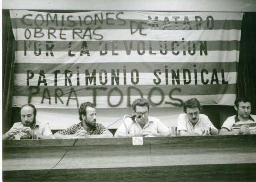
[[[185,114],[180,114],[177,122],[177,131],[180,136],[218,134],[217,128],[209,118],[204,114],[200,114],[202,107],[196,98],[185,101],[183,110]]]

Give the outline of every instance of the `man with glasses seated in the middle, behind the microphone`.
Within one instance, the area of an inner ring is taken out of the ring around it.
[[[133,136],[168,136],[169,129],[157,118],[148,116],[149,103],[147,99],[136,99],[132,103],[134,115],[125,118],[123,124],[116,130],[114,137]]]

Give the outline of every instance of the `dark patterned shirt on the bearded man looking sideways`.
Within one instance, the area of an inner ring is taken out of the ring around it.
[[[82,122],[79,122],[78,124],[74,124],[67,129],[58,131],[57,133],[75,134],[79,129],[83,129]],[[96,123],[95,126],[87,134],[102,134],[106,130],[108,130],[108,129],[106,129],[102,124]]]

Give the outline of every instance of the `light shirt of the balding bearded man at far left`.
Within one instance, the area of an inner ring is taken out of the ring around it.
[[[17,129],[22,129],[24,126],[22,124],[22,122],[15,122],[14,125],[12,126],[12,128],[17,128]],[[11,128],[11,129],[12,129]],[[52,131],[50,129],[50,125],[46,122],[40,122],[38,120],[35,121],[35,126],[34,128],[32,128],[32,130],[35,130],[38,128],[38,133],[44,136],[49,136],[52,135]],[[14,139],[14,140],[20,140],[20,137],[22,137],[23,135],[25,135],[26,133],[24,132],[19,132],[17,134],[15,134],[13,137],[11,137],[10,139]]]

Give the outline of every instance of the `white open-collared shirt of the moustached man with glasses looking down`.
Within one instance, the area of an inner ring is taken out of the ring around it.
[[[192,123],[189,121],[187,114],[180,114],[177,121],[177,131],[185,130],[189,133],[201,134],[202,128],[206,128],[207,126],[211,127],[211,129],[217,130],[215,126],[211,123],[207,115],[199,114],[199,119],[196,125],[193,127]]]

